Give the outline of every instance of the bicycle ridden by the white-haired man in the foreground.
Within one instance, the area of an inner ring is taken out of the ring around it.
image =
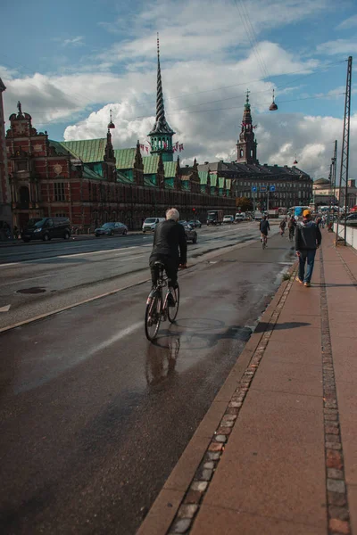
[[[162,289],[168,284],[168,278],[164,275],[165,266],[160,261],[155,262],[154,266],[158,268],[159,276],[155,287],[148,295],[145,309],[145,335],[150,342],[156,338],[161,322],[169,319],[170,323],[173,323],[179,312],[179,284],[173,290],[175,307],[169,307],[169,288],[164,299],[162,295]]]

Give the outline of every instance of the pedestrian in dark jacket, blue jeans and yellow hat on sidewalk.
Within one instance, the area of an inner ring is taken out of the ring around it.
[[[320,228],[311,221],[311,211],[303,210],[303,221],[295,229],[295,251],[299,257],[299,273],[296,280],[304,286],[310,286],[316,250],[321,243]],[[307,269],[305,273],[305,264]]]

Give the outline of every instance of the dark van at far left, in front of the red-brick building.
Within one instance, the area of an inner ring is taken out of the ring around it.
[[[22,232],[21,238],[28,243],[31,240],[48,242],[53,238],[71,238],[71,222],[69,218],[35,218],[29,219],[28,226]]]

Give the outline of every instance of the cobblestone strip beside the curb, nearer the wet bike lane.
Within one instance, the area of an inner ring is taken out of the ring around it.
[[[252,384],[254,374],[258,369],[264,351],[270,341],[270,336],[278,321],[280,312],[285,305],[287,295],[290,292],[291,286],[294,284],[295,273],[296,271],[293,271],[291,274],[290,282],[286,285],[286,289],[270,317],[270,322],[267,325],[265,332],[262,334],[262,338],[257,349],[253,353],[249,366],[245,369],[245,373],[242,375],[236,391],[228,402],[228,407],[212,436],[211,443],[205,451],[201,465],[196,470],[195,476],[179,506],[179,510],[170,525],[170,529],[167,532],[168,535],[177,535],[178,533],[188,534],[193,527],[195,515],[197,514],[199,507],[202,505],[203,498],[209,489],[214,472],[217,470],[220,458],[228,443],[229,435],[237,422],[237,417],[239,416],[240,409],[245,401],[245,396]]]

